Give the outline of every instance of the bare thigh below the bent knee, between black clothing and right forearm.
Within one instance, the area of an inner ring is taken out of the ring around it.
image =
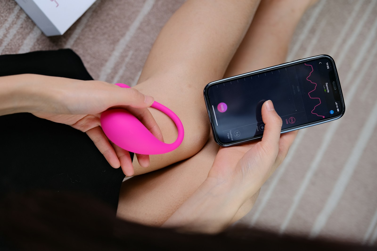
[[[162,225],[207,178],[218,149],[210,137],[195,156],[125,181],[117,216],[141,224]],[[244,204],[234,221],[250,211],[258,193]]]

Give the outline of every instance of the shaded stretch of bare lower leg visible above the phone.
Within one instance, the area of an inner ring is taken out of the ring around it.
[[[312,2],[263,0],[224,77],[284,63],[297,23]]]

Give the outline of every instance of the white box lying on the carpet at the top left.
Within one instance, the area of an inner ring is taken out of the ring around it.
[[[46,36],[63,35],[96,0],[15,0]]]

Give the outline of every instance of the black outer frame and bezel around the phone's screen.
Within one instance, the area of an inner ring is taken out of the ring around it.
[[[222,142],[219,139],[218,134],[216,133],[216,129],[215,129],[215,126],[214,126],[214,121],[213,121],[213,117],[212,117],[212,113],[211,113],[210,103],[209,103],[208,95],[207,95],[208,94],[208,88],[211,87],[211,85],[220,84],[220,83],[228,82],[228,81],[233,81],[233,80],[239,79],[239,78],[246,78],[246,77],[249,77],[249,76],[252,76],[252,75],[264,73],[266,71],[277,70],[277,69],[284,68],[284,67],[287,67],[287,66],[292,66],[294,64],[300,64],[300,63],[304,63],[304,62],[307,62],[307,61],[311,61],[311,60],[315,60],[315,59],[320,59],[320,58],[327,58],[333,64],[334,75],[335,75],[335,78],[336,78],[336,81],[337,81],[337,88],[338,88],[337,91],[339,92],[340,102],[341,102],[342,107],[343,107],[342,112],[338,116],[336,116],[336,117],[331,117],[331,118],[323,119],[323,120],[320,120],[320,121],[317,121],[317,122],[310,122],[310,123],[307,123],[307,124],[304,124],[304,125],[295,126],[293,128],[289,128],[289,129],[283,129],[280,133],[285,133],[285,132],[290,132],[290,131],[294,131],[294,130],[299,130],[299,129],[307,128],[307,127],[314,126],[314,125],[320,125],[322,123],[333,121],[333,120],[336,120],[336,119],[339,119],[340,117],[342,117],[344,115],[344,113],[345,113],[345,103],[344,103],[343,94],[342,94],[342,88],[340,87],[339,76],[338,76],[338,72],[337,72],[337,69],[336,69],[336,65],[335,65],[334,59],[331,56],[329,56],[329,55],[318,55],[318,56],[313,56],[313,57],[310,57],[310,58],[298,59],[298,60],[287,62],[287,63],[284,63],[284,64],[279,64],[279,65],[267,67],[267,68],[264,68],[264,69],[261,69],[261,70],[251,71],[251,72],[248,72],[248,73],[243,73],[243,74],[232,76],[232,77],[229,77],[229,78],[225,78],[225,79],[220,79],[220,80],[217,80],[217,81],[213,81],[213,82],[210,82],[209,84],[207,84],[205,86],[205,88],[204,88],[204,100],[205,100],[205,105],[207,106],[207,113],[208,113],[208,117],[210,119],[210,124],[211,124],[212,133],[213,133],[213,138],[215,139],[216,143],[218,143],[218,145],[224,146],[224,147],[226,147],[226,146],[233,146],[233,145],[239,145],[239,144],[242,144],[242,143],[245,143],[245,142],[248,142],[248,141],[252,141],[252,140],[256,140],[258,138],[262,138],[263,135],[255,136],[255,137],[252,137],[252,138],[246,138],[244,140],[239,140],[239,141],[236,141],[236,142],[230,142],[230,143],[224,143],[224,142]]]

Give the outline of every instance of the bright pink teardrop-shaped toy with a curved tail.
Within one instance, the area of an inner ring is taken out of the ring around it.
[[[116,84],[123,88],[130,88],[125,84]],[[164,154],[171,152],[181,145],[184,130],[181,120],[169,108],[158,102],[152,106],[167,116],[175,123],[178,129],[177,139],[167,144],[158,140],[135,116],[124,109],[106,110],[101,115],[101,127],[106,136],[117,146],[137,154]]]

